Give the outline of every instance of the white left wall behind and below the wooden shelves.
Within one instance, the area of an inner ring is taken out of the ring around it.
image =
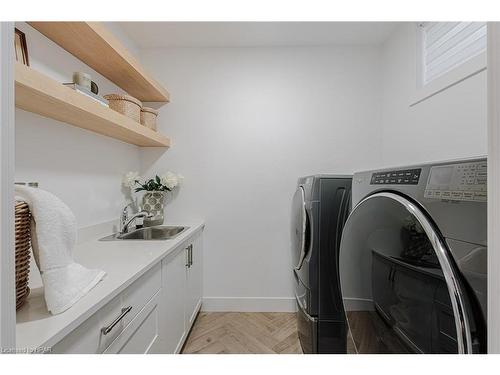
[[[16,27],[26,33],[33,69],[60,82],[87,72],[100,94],[123,92],[29,25]],[[20,109],[15,116],[16,180],[38,181],[69,205],[80,227],[118,219],[125,202],[121,176],[139,169],[139,148]]]

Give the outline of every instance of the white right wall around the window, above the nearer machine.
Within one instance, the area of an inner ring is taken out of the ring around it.
[[[414,23],[399,26],[382,47],[383,164],[486,155],[486,72],[410,107],[415,50]]]

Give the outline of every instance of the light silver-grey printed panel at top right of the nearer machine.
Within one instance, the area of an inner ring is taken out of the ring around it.
[[[424,197],[486,202],[486,161],[431,167]]]

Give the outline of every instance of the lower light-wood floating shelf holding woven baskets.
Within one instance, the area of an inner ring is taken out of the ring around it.
[[[21,63],[15,75],[16,107],[137,146],[170,146],[169,138]]]

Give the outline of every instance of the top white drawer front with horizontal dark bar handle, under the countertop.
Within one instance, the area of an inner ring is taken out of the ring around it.
[[[102,353],[122,333],[127,325],[145,307],[161,288],[161,264],[146,272],[121,294],[112,299],[94,315],[52,347],[52,353]],[[102,328],[108,327],[123,313],[113,329],[106,335]]]

